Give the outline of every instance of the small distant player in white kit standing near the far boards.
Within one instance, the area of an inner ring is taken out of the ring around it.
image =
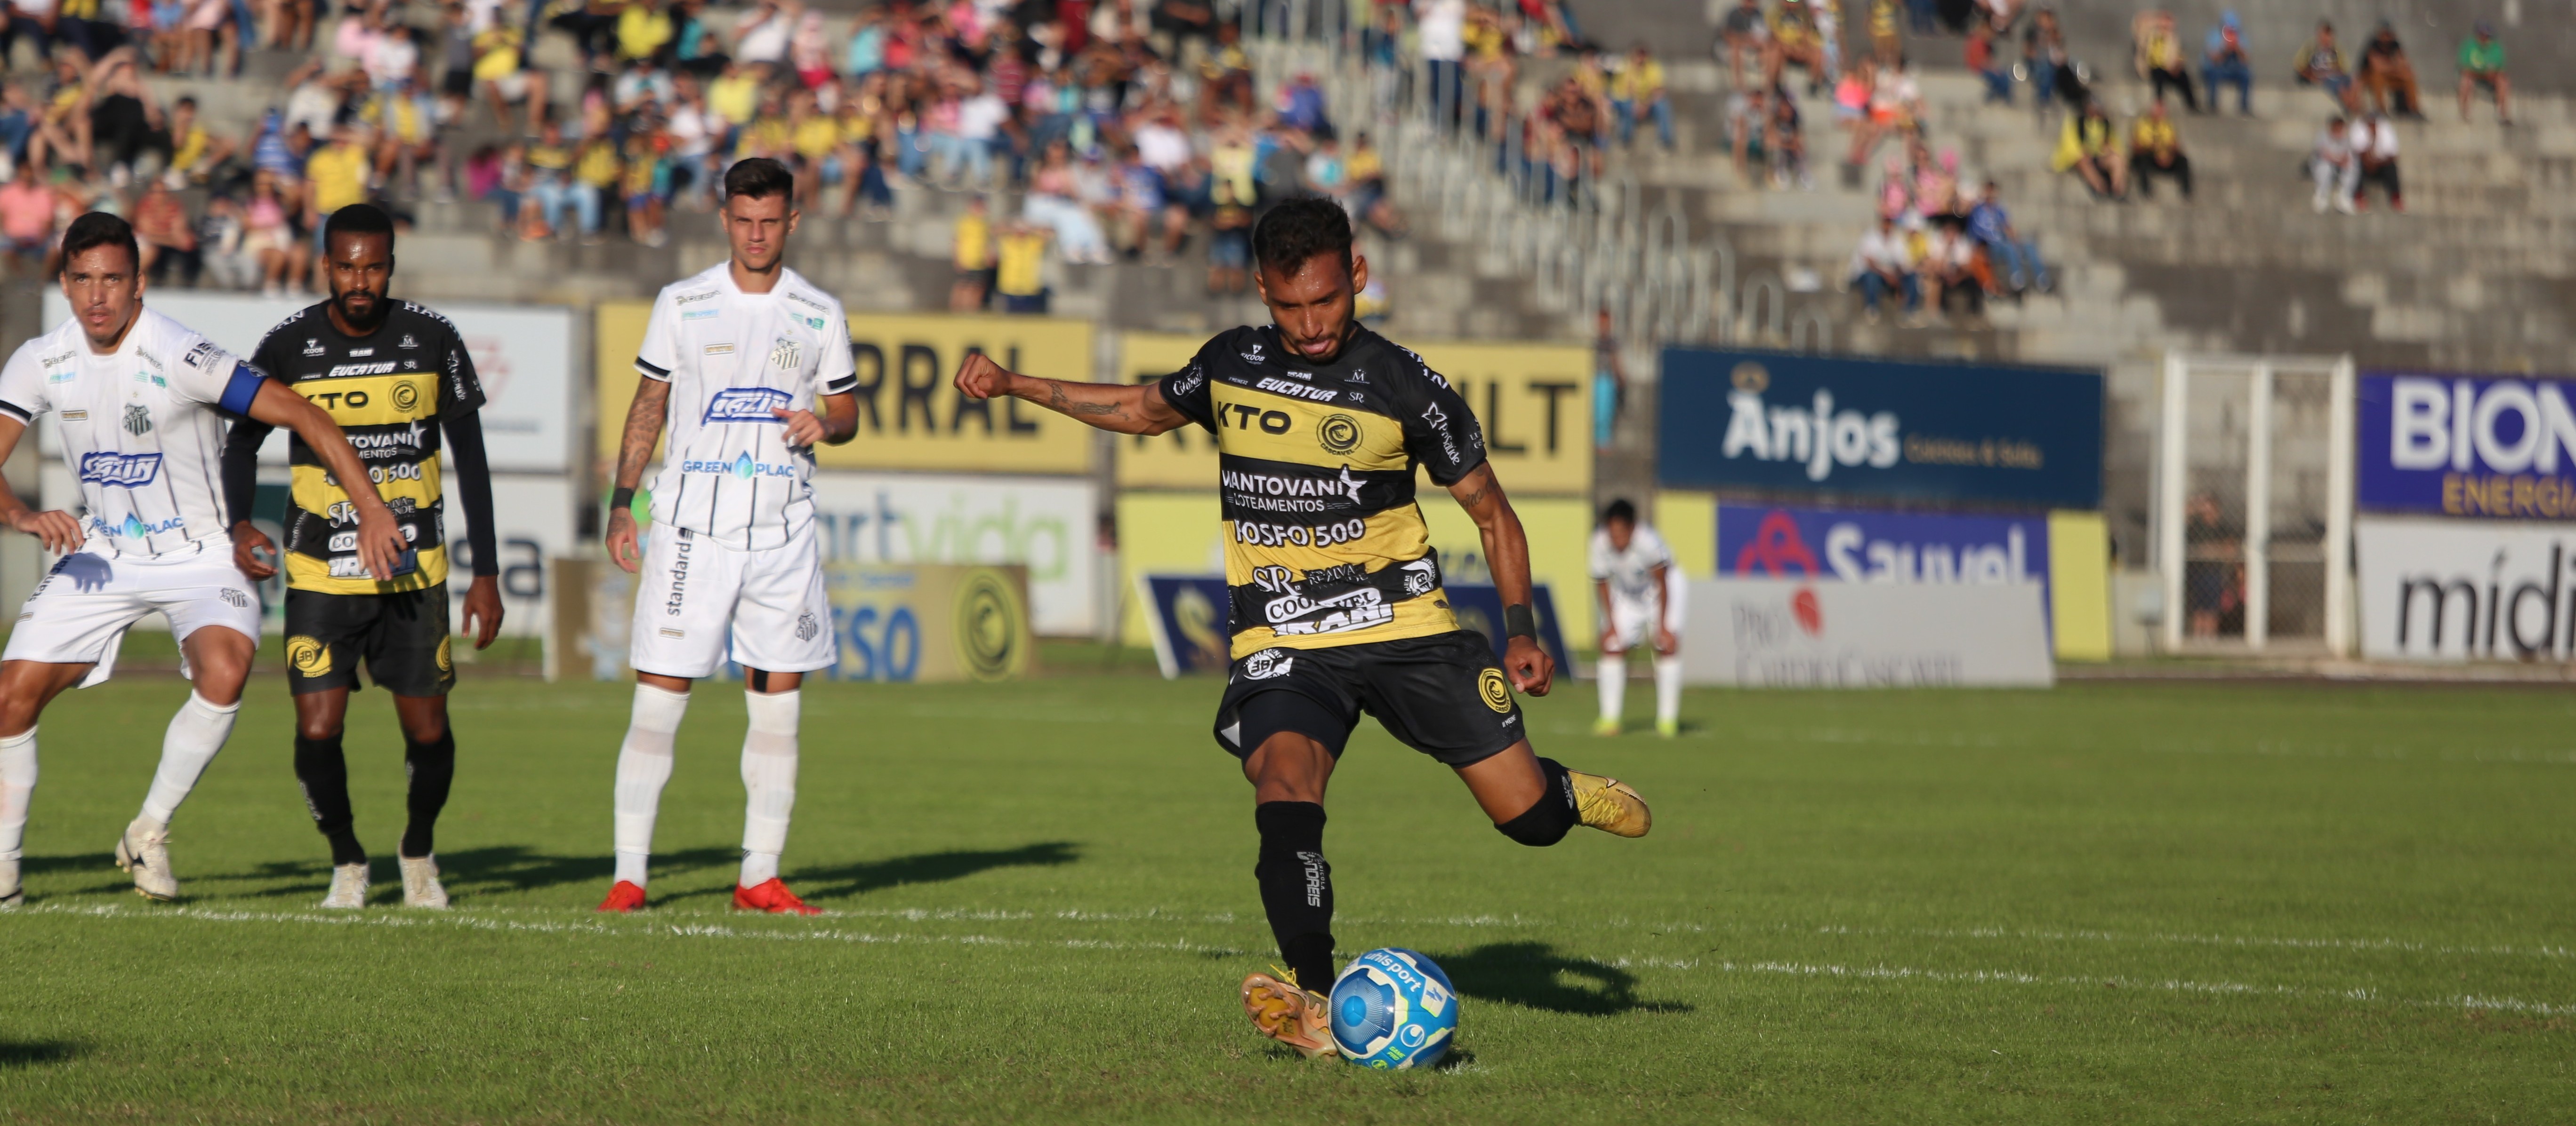
[[[1654,648],[1654,730],[1682,730],[1682,576],[1672,548],[1636,522],[1636,504],[1610,501],[1592,530],[1592,589],[1602,612],[1602,717],[1595,735],[1618,735],[1620,697],[1628,694],[1628,650]]]

